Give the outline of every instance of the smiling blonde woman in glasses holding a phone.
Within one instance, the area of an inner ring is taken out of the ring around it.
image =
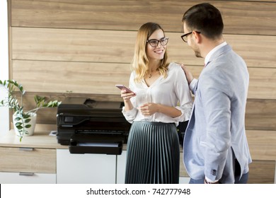
[[[134,93],[121,91],[122,113],[132,123],[125,183],[179,180],[176,126],[189,119],[192,97],[181,67],[167,62],[167,43],[159,24],[145,23],[138,30],[130,75]]]

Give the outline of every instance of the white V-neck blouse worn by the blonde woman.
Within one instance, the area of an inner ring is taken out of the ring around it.
[[[178,122],[189,120],[192,110],[192,95],[181,66],[176,63],[169,64],[167,78],[160,76],[151,86],[147,86],[144,80],[142,83],[134,83],[134,76],[135,72],[132,71],[132,74],[130,74],[130,89],[137,94],[130,99],[133,109],[125,111],[125,107],[122,107],[122,113],[128,122],[174,122],[178,126]],[[137,107],[140,107],[144,103],[156,103],[176,107],[182,114],[179,117],[169,117],[168,115],[156,112],[154,115],[145,117],[137,109]]]

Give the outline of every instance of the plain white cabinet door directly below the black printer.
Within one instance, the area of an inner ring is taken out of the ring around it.
[[[58,184],[115,184],[116,156],[57,149]]]

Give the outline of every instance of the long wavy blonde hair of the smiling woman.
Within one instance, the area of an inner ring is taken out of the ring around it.
[[[136,76],[134,78],[135,83],[141,82],[146,75],[149,74],[149,59],[146,57],[146,40],[156,31],[164,30],[157,23],[145,23],[142,25],[137,33],[137,38],[135,42],[134,48],[134,57],[132,61],[131,69],[135,71]],[[168,71],[168,54],[165,51],[163,59],[161,59],[161,64],[158,68],[158,71],[163,76],[163,78],[167,77]]]

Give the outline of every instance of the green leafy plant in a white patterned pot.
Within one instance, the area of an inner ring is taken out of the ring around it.
[[[23,136],[33,135],[38,110],[46,107],[57,107],[62,103],[58,100],[47,101],[47,98],[35,95],[35,108],[26,112],[23,107],[23,95],[25,94],[23,86],[14,80],[0,80],[0,86],[6,88],[8,92],[8,96],[0,101],[0,106],[13,110],[13,128],[16,134],[20,136],[20,141]],[[20,93],[20,100],[16,98],[16,92]]]

